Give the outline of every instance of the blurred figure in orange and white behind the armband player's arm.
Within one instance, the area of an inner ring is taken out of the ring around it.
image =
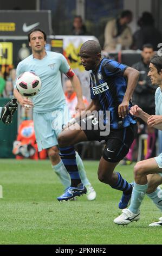
[[[76,93],[74,92],[72,83],[70,82],[69,79],[65,80],[64,87],[65,87],[65,99],[70,111],[70,116],[75,117],[75,114],[76,114],[75,107],[77,105],[77,97],[76,97]],[[85,96],[83,96],[83,101],[85,103],[85,107],[87,107],[89,103]]]

